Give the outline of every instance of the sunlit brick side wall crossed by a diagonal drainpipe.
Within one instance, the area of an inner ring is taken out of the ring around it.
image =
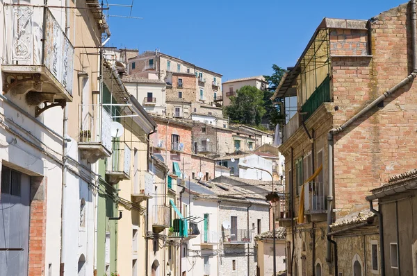
[[[411,33],[407,4],[374,17],[372,60],[334,60],[334,125],[352,117],[411,71]],[[402,42],[402,43],[400,43]],[[407,43],[406,43],[407,42]],[[343,64],[344,62],[344,64]],[[338,73],[344,70],[343,74]],[[341,89],[346,89],[339,95]],[[416,163],[417,87],[407,85],[335,137],[336,207],[366,207],[369,190],[389,176],[414,169]],[[350,101],[350,106],[345,104]]]

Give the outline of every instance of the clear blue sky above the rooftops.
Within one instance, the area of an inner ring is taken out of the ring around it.
[[[269,75],[297,62],[323,17],[370,19],[406,0],[134,0],[132,16],[109,17],[108,45],[180,57],[223,81]],[[108,0],[129,4],[131,0]],[[111,7],[110,15],[130,8]]]

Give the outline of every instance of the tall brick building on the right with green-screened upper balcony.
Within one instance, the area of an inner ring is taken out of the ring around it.
[[[286,159],[289,180],[286,191],[290,218],[281,219],[288,227],[289,272],[295,273],[303,243],[314,236],[316,246],[306,246],[307,269],[320,259],[322,275],[334,273],[334,259],[322,235],[329,226],[329,205],[332,204],[331,211],[337,211],[332,212],[333,223],[368,207],[363,198],[370,189],[386,182],[389,175],[413,169],[411,145],[416,143],[416,137],[409,134],[417,130],[415,85],[401,87],[343,126],[409,75],[410,16],[409,5],[403,4],[369,21],[324,19],[275,92],[275,97],[296,95],[300,106],[284,130],[286,137],[279,147]],[[310,53],[313,58],[307,60]],[[329,135],[331,130],[336,132],[334,136]],[[328,148],[332,148],[330,162]],[[318,173],[320,165],[322,171]],[[334,172],[330,178],[329,170]],[[304,184],[315,172],[316,179]],[[300,200],[303,184],[304,201]],[[329,194],[329,184],[333,194]],[[300,202],[304,212],[299,214]],[[291,216],[298,223],[294,221],[292,225]],[[311,270],[307,270],[310,274]]]

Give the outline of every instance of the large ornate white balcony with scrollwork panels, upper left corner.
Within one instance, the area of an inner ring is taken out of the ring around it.
[[[4,6],[3,93],[26,94],[29,105],[72,101],[74,46],[49,8]],[[42,33],[44,33],[42,37]],[[49,108],[49,107],[48,107]],[[47,108],[37,108],[38,117]]]

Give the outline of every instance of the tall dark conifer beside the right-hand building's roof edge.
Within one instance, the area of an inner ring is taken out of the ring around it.
[[[274,73],[271,76],[263,76],[268,82],[269,87],[263,92],[263,106],[265,107],[266,112],[265,115],[263,115],[262,120],[268,121],[272,126],[276,126],[277,123],[283,122],[285,114],[281,114],[281,106],[273,104],[270,98],[274,95],[274,92],[286,70],[282,69],[277,64],[272,64],[272,70]],[[275,101],[283,103],[284,98],[276,98]]]

